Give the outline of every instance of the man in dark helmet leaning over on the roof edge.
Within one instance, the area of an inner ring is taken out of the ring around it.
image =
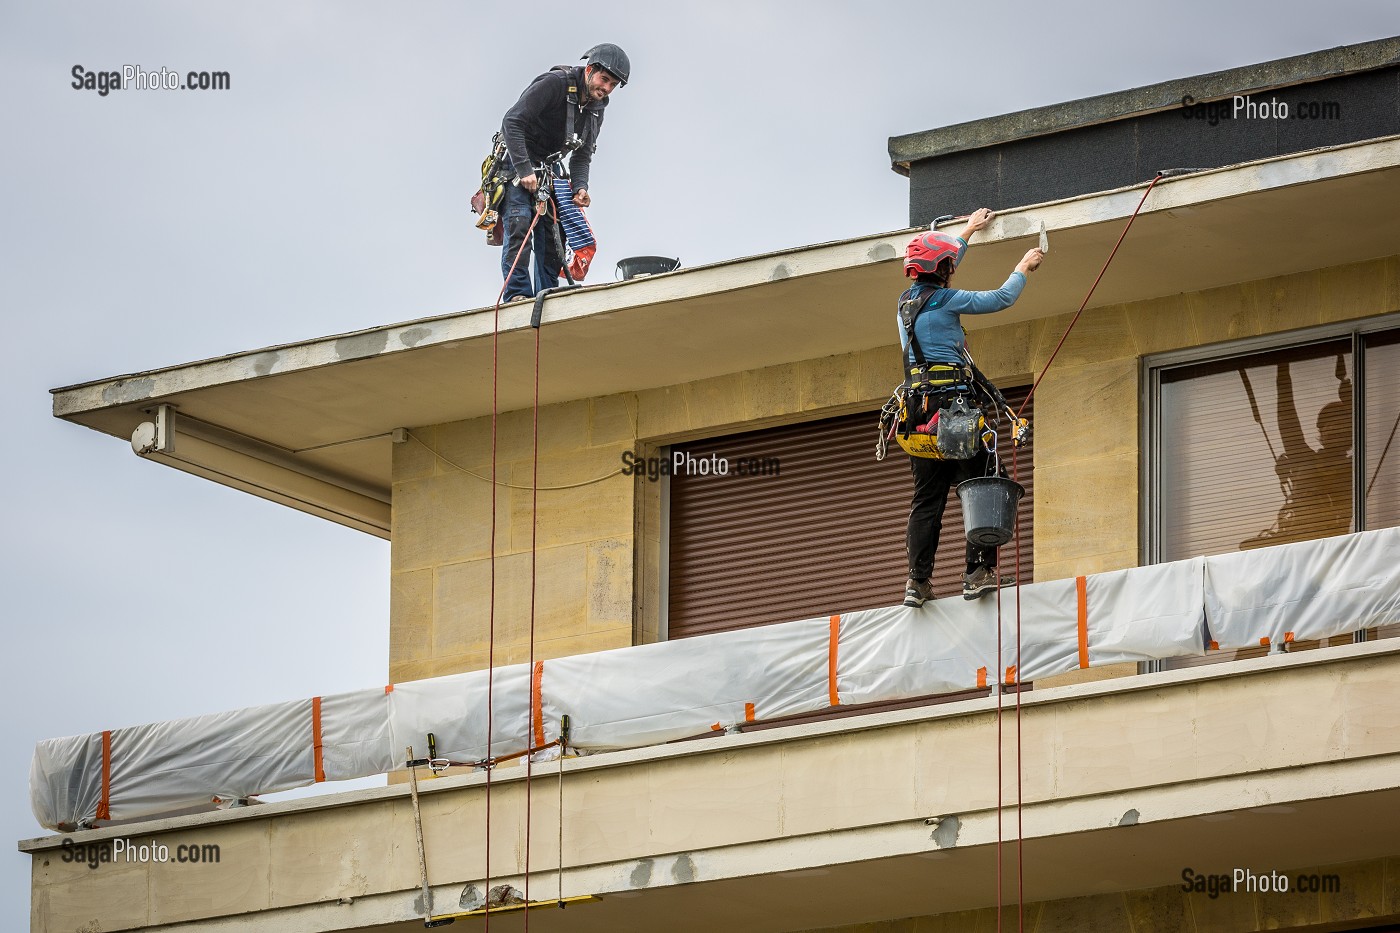
[[[587,207],[592,202],[588,170],[603,126],[603,108],[609,95],[627,83],[631,62],[626,52],[609,42],[588,49],[581,60],[584,66],[559,64],[531,81],[501,120],[508,168],[514,175],[512,182],[504,185],[500,209],[505,226],[501,249],[501,275],[507,277],[504,301],[531,298],[559,284],[564,258],[556,255],[553,227],[538,223],[531,237],[533,244],[525,242],[535,216],[536,193],[546,174],[546,160],[568,156],[573,203]]]

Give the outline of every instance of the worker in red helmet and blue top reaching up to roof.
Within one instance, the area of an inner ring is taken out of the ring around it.
[[[970,443],[963,450],[946,450],[945,433],[937,431],[938,415],[946,412],[945,419],[951,423],[959,412],[966,410],[960,406],[976,398],[973,382],[981,375],[972,367],[965,352],[960,315],[993,314],[1009,308],[1026,287],[1026,275],[1035,272],[1044,258],[1040,249],[1030,249],[1007,276],[1007,282],[994,291],[949,287],[953,272],[967,251],[967,241],[991,223],[993,216],[981,207],[967,219],[960,235],[924,233],[914,237],[904,251],[904,275],[913,277],[914,284],[899,297],[906,412],[906,424],[899,430],[923,427],[928,433],[938,433],[938,440],[945,447],[932,455],[911,452],[909,457],[909,466],[914,474],[914,502],[909,510],[909,583],[904,587],[904,605],[911,608],[924,605],[934,595],[930,577],[948,490],[966,479],[986,475],[990,465],[990,454],[981,440],[981,420],[976,412],[970,413]],[[995,387],[986,384],[984,388],[1000,398]],[[976,409],[977,403],[972,402],[970,406]],[[946,434],[952,434],[951,426]],[[906,450],[911,448],[906,445]],[[998,586],[1012,583],[1009,577],[997,577],[995,548],[969,544],[966,556],[965,600],[976,600]]]

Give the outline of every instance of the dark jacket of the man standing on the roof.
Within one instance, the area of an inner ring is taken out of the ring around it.
[[[568,174],[574,191],[588,188],[588,168],[598,146],[598,132],[603,127],[603,108],[608,99],[594,101],[584,90],[584,66],[559,64],[531,81],[531,85],[505,111],[501,134],[511,154],[515,174],[529,175],[542,158],[564,147],[568,87],[578,88],[580,106],[574,112],[574,132],[584,144],[568,160]]]

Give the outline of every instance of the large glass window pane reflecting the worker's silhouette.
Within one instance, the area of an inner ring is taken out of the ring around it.
[[[1351,531],[1351,396],[1350,339],[1163,371],[1162,560]]]

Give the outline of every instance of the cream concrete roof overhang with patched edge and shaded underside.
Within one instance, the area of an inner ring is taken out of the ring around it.
[[[959,286],[997,287],[1042,224],[1051,255],[1014,308],[969,328],[1078,308],[1144,188],[1004,210]],[[1397,202],[1400,137],[1163,179],[1089,307],[1393,255]],[[889,346],[910,233],[550,297],[540,403]],[[500,312],[500,410],[531,405],[531,311]],[[389,433],[491,410],[493,317],[463,311],[64,387],[53,413],[126,440],[175,405],[175,448],[150,458],[388,537]]]

